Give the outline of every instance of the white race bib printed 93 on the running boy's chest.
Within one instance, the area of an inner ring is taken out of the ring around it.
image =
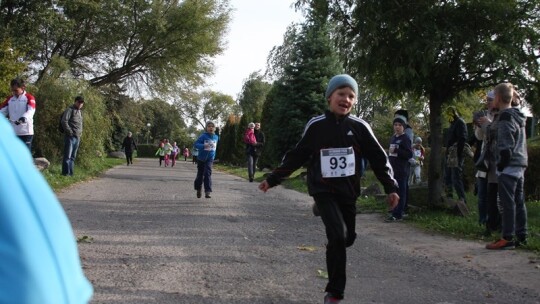
[[[346,177],[355,172],[354,150],[349,148],[321,149],[322,177]]]

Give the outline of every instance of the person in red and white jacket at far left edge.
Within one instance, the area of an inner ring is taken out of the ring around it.
[[[22,79],[11,80],[10,86],[13,95],[0,103],[0,113],[9,118],[17,137],[32,151],[36,99],[26,92],[26,85]]]

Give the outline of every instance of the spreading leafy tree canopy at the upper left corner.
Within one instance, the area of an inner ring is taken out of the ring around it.
[[[160,96],[203,82],[212,70],[208,59],[222,52],[229,20],[228,0],[0,4],[4,35],[25,52],[38,80],[60,56],[92,86],[113,83]]]

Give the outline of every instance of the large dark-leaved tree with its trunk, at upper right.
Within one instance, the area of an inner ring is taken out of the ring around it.
[[[429,100],[432,203],[442,193],[443,106],[503,80],[538,87],[539,2],[331,1],[329,18],[347,67],[391,95]]]

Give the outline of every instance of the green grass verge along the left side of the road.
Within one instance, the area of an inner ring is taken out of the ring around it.
[[[51,166],[42,173],[51,188],[56,192],[78,182],[99,176],[107,169],[124,164],[124,162],[125,160],[119,158],[104,158],[92,162],[90,168],[77,167],[77,164],[75,164],[75,174],[73,176],[62,176],[62,165],[51,164]]]

